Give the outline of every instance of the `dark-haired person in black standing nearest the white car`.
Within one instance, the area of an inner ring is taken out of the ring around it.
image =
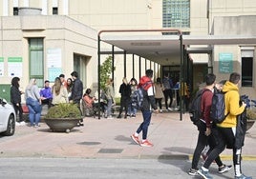
[[[22,92],[19,89],[19,82],[20,82],[19,77],[13,77],[11,79],[11,104],[13,105],[16,116],[19,116],[18,118],[19,124],[25,125],[25,122],[23,119],[23,109],[21,106],[21,94],[23,94],[24,92]]]

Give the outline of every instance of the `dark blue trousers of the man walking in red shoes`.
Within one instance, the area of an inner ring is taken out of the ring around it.
[[[139,133],[142,130],[142,140],[147,139],[147,131],[148,126],[150,125],[152,112],[150,110],[143,110],[143,122],[139,125],[139,129],[137,129],[137,133]]]

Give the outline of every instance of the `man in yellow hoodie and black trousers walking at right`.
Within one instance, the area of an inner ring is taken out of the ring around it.
[[[251,179],[250,176],[245,176],[241,169],[242,146],[238,145],[237,141],[241,140],[237,128],[237,116],[244,112],[246,104],[244,102],[240,105],[239,83],[241,75],[237,72],[232,72],[229,80],[224,83],[223,92],[225,109],[224,113],[228,115],[225,117],[224,122],[217,124],[218,131],[218,144],[209,153],[205,160],[202,169],[198,173],[205,179],[210,179],[212,176],[209,174],[209,167],[215,158],[224,151],[225,148],[233,149],[233,165],[235,171],[235,179]],[[245,133],[244,133],[245,135]],[[242,136],[243,137],[243,136]]]

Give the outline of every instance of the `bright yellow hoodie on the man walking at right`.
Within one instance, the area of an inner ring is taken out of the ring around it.
[[[237,118],[236,116],[241,114],[245,107],[239,106],[239,100],[240,100],[240,94],[238,91],[238,86],[227,81],[224,84],[224,103],[225,103],[225,109],[224,113],[229,114],[224,119],[224,122],[221,124],[218,124],[219,127],[222,128],[234,128],[237,126]]]

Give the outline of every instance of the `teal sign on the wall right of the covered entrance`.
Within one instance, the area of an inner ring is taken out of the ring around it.
[[[219,53],[219,72],[231,73],[233,72],[233,54]]]

